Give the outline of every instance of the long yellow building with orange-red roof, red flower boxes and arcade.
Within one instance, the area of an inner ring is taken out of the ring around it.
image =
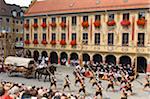
[[[150,68],[149,0],[34,0],[25,14],[27,55]]]

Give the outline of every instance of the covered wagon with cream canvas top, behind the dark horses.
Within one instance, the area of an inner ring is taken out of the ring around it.
[[[21,73],[28,78],[35,72],[36,64],[32,58],[9,56],[5,59],[4,68],[9,76],[12,73]]]

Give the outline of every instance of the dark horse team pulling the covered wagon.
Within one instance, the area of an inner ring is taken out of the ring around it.
[[[56,71],[56,67],[55,66],[47,66],[47,67],[43,67],[43,68],[37,68],[35,71],[35,78],[38,74],[38,80],[40,80],[40,78],[42,77],[42,75],[45,76],[44,78],[44,82],[47,79],[47,76],[49,76],[49,81],[50,81],[50,76],[51,75],[55,75],[55,71]]]

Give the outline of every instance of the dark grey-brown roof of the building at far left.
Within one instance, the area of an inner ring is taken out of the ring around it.
[[[20,12],[21,8],[18,5],[6,4],[4,0],[0,0],[0,16],[12,16],[12,11]]]

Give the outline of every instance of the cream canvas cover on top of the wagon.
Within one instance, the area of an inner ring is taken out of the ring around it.
[[[28,65],[31,61],[34,62],[34,59],[9,56],[5,59],[4,64],[5,65],[10,64],[10,65],[15,65],[15,66],[24,66],[24,67],[28,68]]]

